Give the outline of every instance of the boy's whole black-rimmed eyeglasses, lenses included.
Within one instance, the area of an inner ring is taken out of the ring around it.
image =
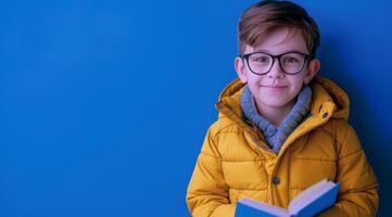
[[[296,75],[302,72],[308,60],[313,58],[306,53],[288,52],[279,55],[271,55],[263,52],[253,52],[239,55],[242,61],[246,60],[248,66],[256,75],[265,75],[273,68],[275,59],[278,59],[279,66],[283,73]]]

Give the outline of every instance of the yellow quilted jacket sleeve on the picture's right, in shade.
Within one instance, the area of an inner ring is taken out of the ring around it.
[[[379,203],[376,175],[366,159],[364,150],[354,131],[346,125],[339,139],[337,180],[340,182],[334,206],[319,216],[376,216]]]

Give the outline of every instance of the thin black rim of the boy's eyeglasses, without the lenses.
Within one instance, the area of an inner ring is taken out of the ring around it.
[[[270,56],[270,58],[273,59],[273,64],[270,65],[269,69],[268,69],[266,73],[255,73],[255,72],[252,69],[251,65],[249,64],[249,56],[251,56],[252,54],[255,54],[255,53],[265,54],[265,55],[268,55],[268,56]],[[300,69],[299,72],[296,72],[296,73],[287,73],[287,72],[283,69],[283,67],[281,66],[280,58],[281,58],[282,55],[288,54],[288,53],[298,53],[298,54],[301,54],[301,55],[304,55],[304,56],[305,56],[304,64],[302,65],[302,67],[301,67],[301,69]],[[312,56],[312,55],[309,55],[309,54],[307,54],[307,53],[302,53],[302,52],[296,52],[296,51],[290,51],[290,52],[281,53],[281,54],[279,54],[279,55],[273,55],[273,54],[269,54],[269,53],[265,53],[265,52],[260,52],[260,51],[257,51],[257,52],[252,52],[252,53],[246,53],[246,54],[240,54],[240,55],[238,55],[238,56],[241,58],[242,62],[243,62],[243,60],[246,61],[246,65],[248,65],[249,69],[251,69],[251,72],[252,72],[253,74],[255,74],[255,75],[266,75],[266,74],[268,74],[268,73],[270,72],[270,69],[274,67],[275,59],[278,59],[279,67],[280,67],[280,69],[281,69],[283,73],[286,73],[286,74],[288,74],[288,75],[298,75],[299,73],[301,73],[301,72],[304,69],[305,65],[307,65],[307,64],[314,59],[314,56]]]

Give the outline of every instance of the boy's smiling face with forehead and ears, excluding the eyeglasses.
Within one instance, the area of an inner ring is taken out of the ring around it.
[[[300,30],[282,27],[270,33],[256,48],[246,46],[244,54],[261,51],[271,55],[279,55],[290,51],[308,54],[305,40]],[[308,84],[319,68],[319,61],[312,60],[296,75],[286,74],[275,59],[270,71],[265,75],[252,73],[245,60],[237,58],[235,61],[236,71],[242,82],[248,86],[255,98],[256,104],[279,108],[290,105],[301,91],[303,84]]]

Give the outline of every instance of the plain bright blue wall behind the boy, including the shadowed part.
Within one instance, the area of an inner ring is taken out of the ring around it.
[[[1,1],[0,216],[188,216],[253,2]],[[351,95],[387,215],[392,3],[296,2],[321,28],[321,75]]]

